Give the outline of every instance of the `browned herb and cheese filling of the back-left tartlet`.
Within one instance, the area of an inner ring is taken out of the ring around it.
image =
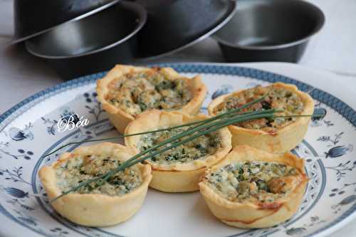
[[[192,93],[183,78],[172,79],[160,73],[127,73],[110,85],[108,102],[130,115],[149,109],[175,110],[192,100]]]

